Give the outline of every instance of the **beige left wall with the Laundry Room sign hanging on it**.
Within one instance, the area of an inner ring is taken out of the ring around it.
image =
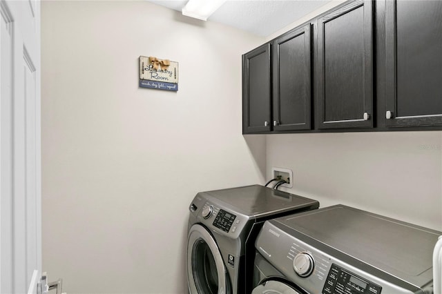
[[[264,182],[241,132],[241,55],[263,39],[147,1],[43,1],[43,269],[68,293],[185,293],[188,206]],[[138,88],[138,57],[180,90]]]

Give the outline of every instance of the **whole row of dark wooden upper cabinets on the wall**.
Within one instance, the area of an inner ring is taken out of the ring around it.
[[[244,134],[442,130],[440,0],[347,1],[242,62]]]

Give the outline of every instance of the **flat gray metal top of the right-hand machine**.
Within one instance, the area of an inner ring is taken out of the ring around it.
[[[432,280],[432,251],[442,235],[439,231],[343,205],[270,222],[282,224],[278,227],[287,233],[314,239],[325,248],[334,248],[418,286]]]

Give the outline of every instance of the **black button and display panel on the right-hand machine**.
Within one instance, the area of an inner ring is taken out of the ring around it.
[[[381,290],[381,286],[332,264],[327,280],[325,280],[323,294],[381,294]]]

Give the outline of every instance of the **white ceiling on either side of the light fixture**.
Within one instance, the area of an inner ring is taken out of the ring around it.
[[[148,0],[181,11],[187,1]],[[254,35],[267,37],[331,0],[227,0],[209,17]]]

